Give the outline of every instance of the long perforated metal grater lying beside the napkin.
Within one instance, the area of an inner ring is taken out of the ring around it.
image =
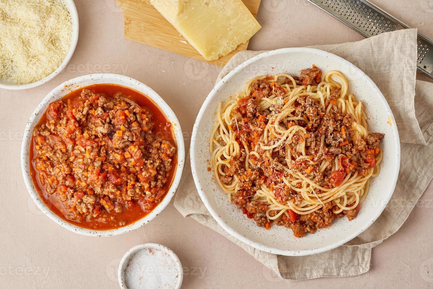
[[[365,37],[410,28],[366,0],[308,0]],[[418,33],[418,70],[433,78],[433,42]]]

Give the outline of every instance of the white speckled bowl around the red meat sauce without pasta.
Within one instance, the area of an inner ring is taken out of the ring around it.
[[[142,93],[149,96],[149,98],[161,108],[161,110],[165,113],[165,116],[172,123],[172,128],[174,132],[174,136],[176,139],[176,145],[178,147],[178,166],[176,168],[176,172],[174,175],[173,182],[171,184],[170,189],[165,195],[165,198],[159,203],[155,209],[147,214],[144,218],[136,221],[135,223],[129,224],[125,227],[120,227],[113,230],[89,230],[84,229],[74,224],[68,223],[63,219],[59,218],[55,213],[53,213],[50,209],[47,208],[45,203],[42,201],[38,192],[36,191],[35,186],[33,185],[32,178],[30,176],[30,166],[29,162],[29,148],[32,139],[33,129],[38,123],[42,114],[44,114],[45,110],[48,107],[48,104],[53,101],[57,101],[61,97],[64,97],[71,91],[74,91],[78,88],[91,85],[91,84],[99,84],[99,83],[107,83],[107,84],[120,84],[126,87],[135,89],[137,91],[141,91]],[[87,236],[115,236],[120,235],[132,230],[135,230],[144,224],[149,223],[155,218],[161,211],[168,205],[171,198],[173,197],[176,189],[178,188],[179,182],[181,180],[182,170],[184,168],[185,162],[185,149],[184,149],[184,139],[182,135],[181,125],[178,121],[178,118],[174,114],[173,110],[168,106],[167,103],[160,97],[155,91],[152,90],[149,86],[137,81],[135,79],[129,78],[124,75],[117,75],[111,73],[101,73],[101,74],[90,74],[80,76],[69,81],[66,81],[60,84],[58,87],[54,88],[36,107],[36,110],[33,112],[32,116],[27,123],[26,130],[24,131],[23,143],[21,145],[21,169],[23,171],[24,182],[26,183],[27,190],[29,194],[32,196],[33,201],[35,201],[38,208],[44,212],[50,219],[55,221],[57,224],[60,224],[62,227],[65,227],[69,231],[87,235]]]

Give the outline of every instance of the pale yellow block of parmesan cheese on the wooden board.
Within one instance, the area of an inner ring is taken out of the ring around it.
[[[206,60],[227,55],[261,26],[241,0],[150,0]]]

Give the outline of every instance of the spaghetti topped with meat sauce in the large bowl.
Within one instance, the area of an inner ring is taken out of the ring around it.
[[[216,181],[260,227],[296,237],[356,217],[383,153],[364,104],[339,71],[262,75],[217,109],[210,139]]]

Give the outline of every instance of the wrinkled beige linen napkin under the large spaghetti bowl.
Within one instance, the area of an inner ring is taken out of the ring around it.
[[[433,84],[417,81],[417,30],[384,33],[359,42],[318,45],[352,62],[377,84],[394,113],[401,141],[401,166],[394,194],[381,216],[362,234],[334,250],[310,256],[287,257],[257,250],[232,237],[212,218],[185,167],[174,206],[242,247],[285,279],[353,276],[370,269],[372,247],[394,234],[407,219],[433,177]],[[258,55],[237,53],[216,82],[236,66]],[[189,157],[187,158],[189,164]]]

